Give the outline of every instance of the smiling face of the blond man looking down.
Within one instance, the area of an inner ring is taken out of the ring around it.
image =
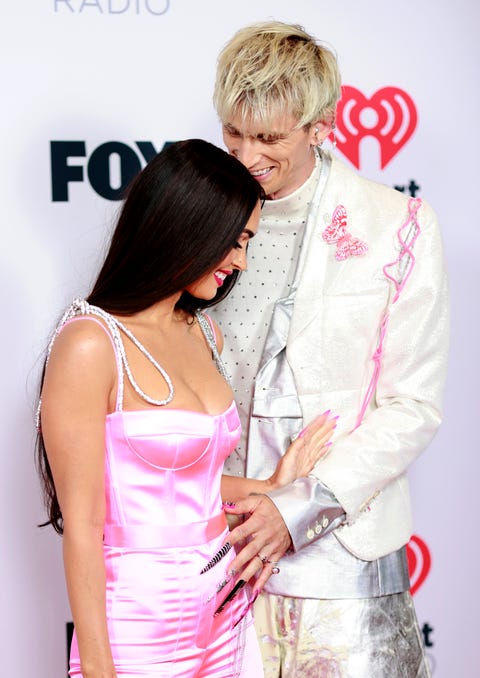
[[[315,135],[318,124],[296,129],[297,122],[290,114],[275,117],[268,125],[242,121],[239,115],[223,122],[223,140],[229,152],[273,200],[299,188],[315,164],[313,145],[321,141],[318,133]]]

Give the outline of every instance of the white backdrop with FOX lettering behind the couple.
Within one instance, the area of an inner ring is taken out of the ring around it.
[[[2,678],[66,673],[61,540],[36,527],[43,510],[32,413],[47,336],[63,306],[88,289],[118,208],[99,192],[121,185],[119,158],[143,166],[145,146],[136,142],[221,145],[211,105],[216,56],[240,26],[269,18],[333,45],[344,83],[367,100],[396,87],[414,102],[418,123],[407,143],[381,169],[379,143],[366,136],[359,165],[389,185],[413,181],[442,225],[452,349],[445,421],[411,472],[420,544],[412,544],[413,580],[434,677],[479,675],[477,0],[3,0]],[[364,108],[366,132],[375,112]],[[55,196],[67,187],[68,200],[52,200],[52,141],[84,144],[55,146]]]

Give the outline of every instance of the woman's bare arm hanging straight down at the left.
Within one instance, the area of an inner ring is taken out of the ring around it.
[[[41,428],[64,520],[65,575],[84,678],[116,676],[102,545],[105,416],[115,386],[106,334],[92,322],[66,326],[46,370]]]

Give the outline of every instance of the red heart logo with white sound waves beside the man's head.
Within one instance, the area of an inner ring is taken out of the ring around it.
[[[415,131],[417,109],[413,99],[398,87],[383,87],[367,99],[360,90],[344,85],[336,125],[337,148],[357,169],[362,139],[377,139],[383,169]]]

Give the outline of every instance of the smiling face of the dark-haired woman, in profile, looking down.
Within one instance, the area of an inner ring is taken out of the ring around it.
[[[227,275],[235,270],[245,271],[247,269],[247,246],[258,230],[260,209],[259,201],[230,252],[210,273],[206,273],[199,280],[189,285],[186,288],[187,292],[197,299],[213,299]]]

